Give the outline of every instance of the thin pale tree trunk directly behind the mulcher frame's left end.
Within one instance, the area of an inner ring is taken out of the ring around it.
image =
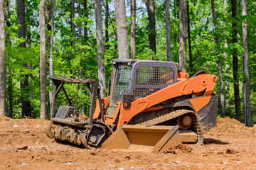
[[[48,18],[50,18],[50,62],[49,62],[49,70],[50,76],[53,76],[53,43],[54,43],[54,11],[55,11],[56,0],[50,0]],[[52,89],[53,81],[50,80],[50,89]],[[53,103],[53,91],[49,90],[49,98],[50,98],[50,118],[53,117],[52,111],[52,103]]]

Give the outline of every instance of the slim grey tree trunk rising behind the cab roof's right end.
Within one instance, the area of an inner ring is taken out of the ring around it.
[[[167,61],[171,62],[171,18],[170,18],[170,0],[165,0],[165,10],[166,10],[166,51],[167,51]]]

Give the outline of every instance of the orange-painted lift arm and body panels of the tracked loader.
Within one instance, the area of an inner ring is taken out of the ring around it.
[[[189,75],[186,72],[178,72],[176,83],[144,98],[135,98],[134,101],[130,103],[129,108],[125,108],[123,101],[119,101],[114,115],[105,116],[105,123],[112,127],[114,126],[119,128],[120,125],[129,123],[129,121],[139,113],[162,110],[166,108],[164,102],[170,99],[174,99],[173,105],[175,106],[178,101],[181,101],[179,97],[188,95],[191,95],[192,97],[187,98],[186,106],[181,104],[176,107],[186,107],[193,110],[195,113],[206,108],[204,111],[201,111],[203,112],[202,114],[205,115],[206,112],[210,112],[207,110],[209,106],[213,105],[212,103],[216,103],[216,97],[213,98],[216,96],[213,94],[213,90],[218,78],[214,74],[200,74],[195,77],[191,77],[190,79],[188,79],[188,76]],[[110,97],[102,98],[105,113],[107,112],[107,108],[110,103],[109,100]],[[216,106],[214,109],[216,109]],[[93,118],[100,119],[100,106],[98,100]],[[208,130],[208,128],[206,128],[206,130]]]

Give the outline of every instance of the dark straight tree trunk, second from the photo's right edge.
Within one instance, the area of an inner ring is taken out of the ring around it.
[[[232,8],[232,42],[233,45],[238,43],[238,30],[237,30],[237,0],[231,0]],[[235,91],[235,113],[236,119],[241,121],[241,108],[240,108],[240,96],[239,96],[239,81],[238,81],[238,52],[235,47],[233,47],[233,77],[235,80],[234,91]]]

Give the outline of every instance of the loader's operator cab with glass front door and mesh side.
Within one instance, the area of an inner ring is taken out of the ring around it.
[[[114,66],[110,88],[110,107],[107,117],[112,117],[124,95],[144,98],[166,86],[176,83],[178,63],[152,60],[112,60]]]

